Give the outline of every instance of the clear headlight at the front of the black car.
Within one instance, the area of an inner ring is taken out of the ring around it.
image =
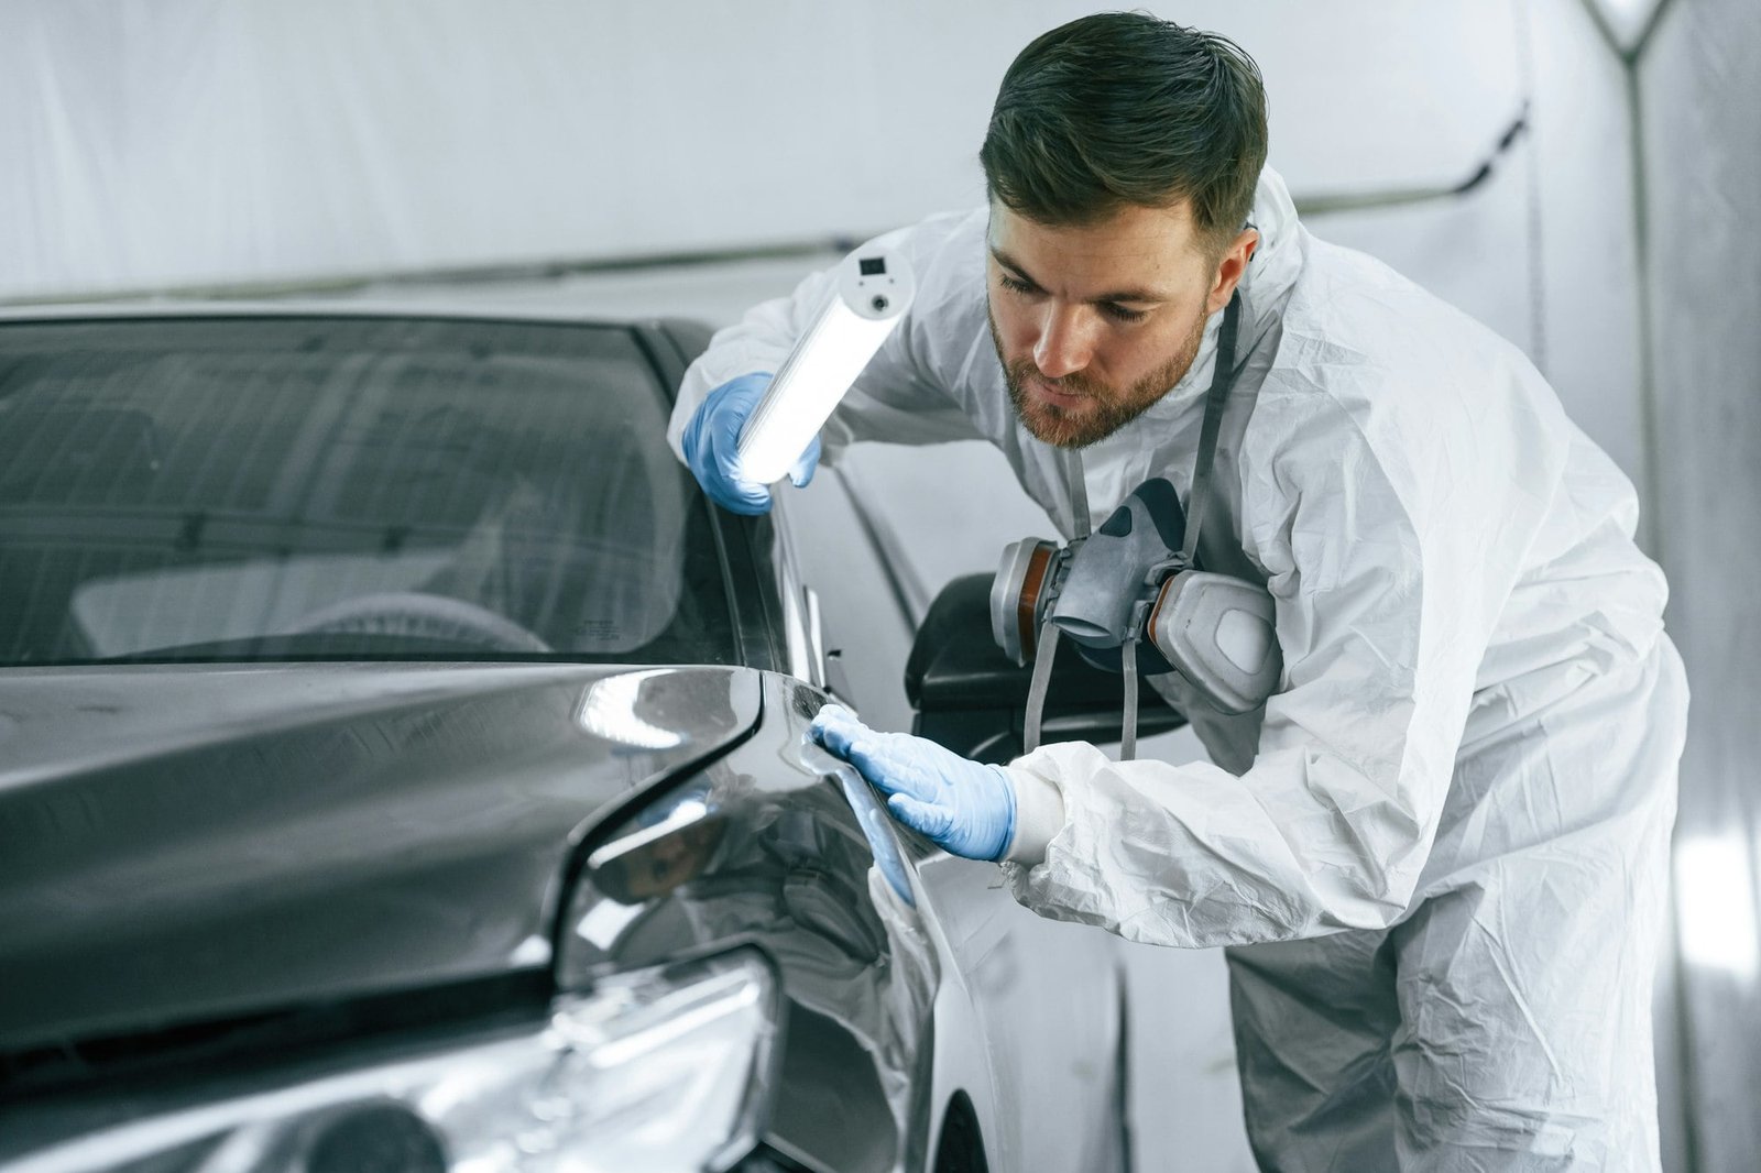
[[[523,1036],[134,1122],[12,1169],[726,1169],[757,1143],[777,1023],[777,978],[741,949],[606,978]]]

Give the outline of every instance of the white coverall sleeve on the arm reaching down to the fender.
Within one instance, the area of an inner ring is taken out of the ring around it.
[[[1016,759],[1064,800],[1044,861],[1004,865],[1044,916],[1197,948],[1382,928],[1412,898],[1537,505],[1437,440],[1449,421],[1375,451],[1324,393],[1263,409],[1286,451],[1243,491],[1284,678],[1259,754],[1240,777],[1087,743]]]

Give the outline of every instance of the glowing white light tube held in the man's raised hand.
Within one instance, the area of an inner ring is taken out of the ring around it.
[[[789,468],[900,324],[917,284],[891,248],[865,245],[835,269],[831,298],[771,379],[740,433],[740,474],[757,484]]]

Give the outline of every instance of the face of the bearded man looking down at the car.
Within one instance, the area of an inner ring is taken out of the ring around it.
[[[991,340],[1023,426],[1083,447],[1120,430],[1192,366],[1257,234],[1213,259],[1185,201],[1050,225],[991,201]]]

